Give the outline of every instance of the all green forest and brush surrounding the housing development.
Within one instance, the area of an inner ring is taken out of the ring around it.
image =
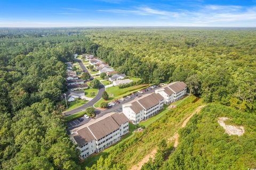
[[[145,83],[184,81],[200,103],[212,103],[179,132],[180,145],[168,159],[162,158],[161,139],[198,105],[191,103],[194,97],[87,169],[126,169],[152,146],[159,147],[161,162],[143,168],[255,166],[255,29],[49,28],[0,29],[0,169],[81,169],[60,98],[66,91],[64,63],[76,53],[93,54]],[[220,115],[245,126],[242,139],[211,131]]]

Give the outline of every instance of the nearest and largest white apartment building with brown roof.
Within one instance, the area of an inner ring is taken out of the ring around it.
[[[70,137],[84,159],[119,141],[129,131],[128,121],[123,113],[111,112],[72,130]]]

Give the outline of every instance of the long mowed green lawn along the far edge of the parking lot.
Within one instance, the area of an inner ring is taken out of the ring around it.
[[[106,91],[109,95],[109,98],[108,98],[108,100],[106,100],[106,102],[110,102],[114,99],[121,98],[123,96],[127,96],[134,91],[138,91],[138,90],[141,90],[141,89],[149,87],[149,86],[150,86],[149,84],[140,84],[137,86],[127,87],[127,88],[123,88],[123,89],[119,89],[117,86],[106,88]],[[113,94],[113,96],[110,97],[110,94]],[[101,98],[97,103],[94,104],[94,106],[99,107],[103,101],[104,101],[104,99]]]

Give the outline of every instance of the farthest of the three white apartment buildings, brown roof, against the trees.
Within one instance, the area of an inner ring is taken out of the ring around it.
[[[182,81],[172,82],[162,88],[155,90],[155,93],[163,96],[164,103],[169,105],[170,103],[181,99],[187,94],[187,84]]]

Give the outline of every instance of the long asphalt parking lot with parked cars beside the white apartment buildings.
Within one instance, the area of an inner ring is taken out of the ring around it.
[[[109,112],[122,112],[122,105],[133,100],[135,97],[141,97],[145,94],[150,94],[152,92],[154,92],[156,89],[158,89],[160,87],[156,87],[154,89],[148,89],[148,91],[146,92],[143,92],[143,94],[140,94],[139,92],[136,92],[135,94],[137,94],[137,96],[135,95],[131,95],[131,98],[128,98],[128,97],[124,97],[124,101],[122,100],[118,100],[119,101],[119,104],[118,103],[115,103],[114,106],[110,106],[108,107],[106,110],[104,111],[99,111],[98,109],[95,109],[95,117],[94,118],[99,118],[103,115],[105,115],[106,113],[109,113]],[[81,126],[87,122],[89,122],[91,120],[91,118],[88,118],[86,119],[84,116],[80,117],[81,118],[81,122],[78,121],[78,119],[74,120],[74,121],[71,121],[71,122],[68,122],[67,123],[67,126],[68,126],[68,131],[70,131],[71,129],[74,129],[74,128],[77,128],[78,126]]]

